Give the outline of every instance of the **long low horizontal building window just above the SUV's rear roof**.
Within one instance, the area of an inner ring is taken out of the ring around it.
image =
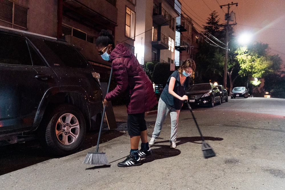
[[[68,26],[66,24],[62,24],[62,34],[63,34],[63,36],[71,35],[71,36],[74,36],[76,38],[90,42],[92,44],[94,42],[94,36],[91,36],[91,35],[87,34],[86,32],[83,32],[79,29],[73,28],[72,26]]]

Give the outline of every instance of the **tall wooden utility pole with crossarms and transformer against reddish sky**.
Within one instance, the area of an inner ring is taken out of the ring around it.
[[[229,45],[229,26],[231,25],[236,25],[237,23],[235,24],[229,24],[229,21],[230,21],[230,17],[229,17],[229,13],[230,13],[230,5],[235,5],[237,6],[238,3],[233,3],[231,2],[228,3],[227,5],[221,5],[221,9],[224,7],[224,6],[228,6],[228,13],[225,14],[225,20],[227,21],[227,24],[219,24],[219,26],[226,26],[226,56],[225,56],[225,65],[224,65],[224,87],[227,88],[227,71],[228,71],[228,45]]]

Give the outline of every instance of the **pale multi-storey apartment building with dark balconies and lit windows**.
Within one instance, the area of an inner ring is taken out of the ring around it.
[[[174,0],[141,0],[136,6],[135,54],[140,64],[174,63],[176,17]]]

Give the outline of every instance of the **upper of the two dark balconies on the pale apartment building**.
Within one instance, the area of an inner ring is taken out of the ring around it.
[[[169,13],[161,6],[154,6],[152,11],[152,21],[157,25],[169,25]]]

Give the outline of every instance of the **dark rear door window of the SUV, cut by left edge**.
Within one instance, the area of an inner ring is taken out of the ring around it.
[[[31,66],[32,62],[26,40],[0,33],[0,64]]]

